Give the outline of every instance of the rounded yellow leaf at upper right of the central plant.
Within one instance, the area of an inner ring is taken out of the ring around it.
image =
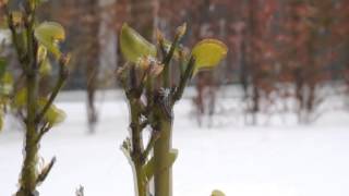
[[[195,72],[215,68],[228,52],[227,46],[217,39],[204,39],[193,48]]]

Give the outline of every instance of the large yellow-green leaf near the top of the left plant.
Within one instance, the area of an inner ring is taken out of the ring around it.
[[[56,22],[44,22],[35,28],[35,38],[57,59],[60,58],[59,41],[65,39],[65,32],[62,25]]]

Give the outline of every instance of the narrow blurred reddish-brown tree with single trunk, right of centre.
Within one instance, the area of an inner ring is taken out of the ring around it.
[[[240,78],[244,97],[249,101],[246,111],[252,115],[252,124],[257,123],[262,99],[267,99],[274,89],[276,52],[273,45],[273,24],[276,10],[276,0],[249,0],[244,8],[245,29],[241,44],[241,61],[244,68]]]

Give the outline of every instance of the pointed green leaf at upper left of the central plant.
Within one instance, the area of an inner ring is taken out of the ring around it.
[[[123,57],[133,63],[144,57],[156,57],[156,47],[128,24],[123,24],[121,28],[120,48]]]

